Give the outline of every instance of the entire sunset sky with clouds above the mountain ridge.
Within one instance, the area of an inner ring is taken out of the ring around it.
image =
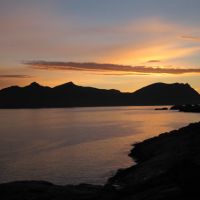
[[[0,0],[0,88],[33,81],[200,92],[199,0]]]

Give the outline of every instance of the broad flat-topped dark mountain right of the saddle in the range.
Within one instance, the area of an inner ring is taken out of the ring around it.
[[[132,97],[138,105],[196,104],[199,99],[199,93],[183,83],[154,83],[135,91]]]

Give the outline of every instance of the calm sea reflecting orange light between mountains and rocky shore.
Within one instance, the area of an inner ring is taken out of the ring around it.
[[[0,110],[0,182],[103,184],[131,144],[200,120],[154,107]]]

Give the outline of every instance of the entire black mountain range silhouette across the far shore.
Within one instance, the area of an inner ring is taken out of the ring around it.
[[[154,83],[132,93],[82,87],[68,82],[44,87],[33,82],[0,90],[0,108],[198,104],[200,95],[189,84]]]

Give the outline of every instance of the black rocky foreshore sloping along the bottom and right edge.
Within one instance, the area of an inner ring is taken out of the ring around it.
[[[134,144],[137,162],[104,186],[57,186],[43,181],[0,184],[9,200],[192,200],[200,198],[200,122]]]

